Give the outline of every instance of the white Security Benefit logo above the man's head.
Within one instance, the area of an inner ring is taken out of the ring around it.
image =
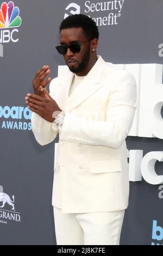
[[[84,5],[79,6],[77,3],[67,5],[64,19],[69,15],[81,13],[92,18],[97,26],[117,25],[118,19],[121,17],[121,11],[124,0],[112,1],[85,1]]]

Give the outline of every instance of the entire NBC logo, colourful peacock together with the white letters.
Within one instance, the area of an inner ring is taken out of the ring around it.
[[[20,9],[14,6],[14,2],[3,2],[0,9],[0,43],[17,42],[18,27],[22,20],[19,16]],[[7,29],[8,28],[8,29]]]

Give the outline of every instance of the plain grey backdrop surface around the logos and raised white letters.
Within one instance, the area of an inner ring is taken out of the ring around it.
[[[3,57],[0,57],[1,109],[26,107],[24,97],[32,92],[36,70],[43,65],[50,65],[51,77],[55,77],[58,65],[65,64],[54,46],[59,44],[60,22],[65,13],[70,14],[70,10],[65,11],[65,8],[72,2],[80,5],[80,13],[91,17],[108,16],[111,12],[85,13],[86,1],[82,0],[14,1],[15,6],[20,8],[22,24],[16,28],[18,33],[13,34],[18,42],[3,42]],[[90,4],[104,2],[93,0]],[[0,5],[2,3],[0,1]],[[112,12],[118,13],[117,10]],[[99,26],[98,54],[106,62],[115,64],[163,64],[163,57],[158,54],[158,46],[163,43],[162,12],[161,0],[124,0],[121,16],[117,17],[118,24]],[[11,32],[14,28],[6,29]],[[3,30],[0,28],[0,33]],[[5,113],[7,115],[9,111]],[[15,211],[7,203],[0,209],[0,244],[55,245],[51,205],[54,143],[45,147],[37,144],[30,130],[30,119],[23,115],[21,117],[20,113],[19,108],[20,118],[16,119],[12,118],[13,115],[8,118],[5,118],[5,114],[0,115],[0,192],[7,193],[11,200],[12,195],[15,196]],[[10,123],[12,129],[5,129],[9,121],[14,122]],[[29,125],[29,129],[21,130],[21,122],[26,123],[23,124],[25,128]],[[17,129],[17,125],[20,125],[20,129]],[[57,141],[58,138],[55,139]],[[161,151],[163,142],[158,138],[128,137],[127,146],[128,149],[143,150],[145,155],[149,151]],[[161,174],[162,167],[162,163],[156,163],[158,174]],[[121,235],[122,245],[162,242],[152,240],[153,220],[163,227],[158,188],[159,185],[150,185],[143,180],[130,182],[129,207]]]

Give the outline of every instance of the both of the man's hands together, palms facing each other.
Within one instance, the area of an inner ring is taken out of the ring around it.
[[[33,89],[34,94],[28,93],[26,96],[26,104],[28,108],[39,114],[45,120],[53,123],[54,117],[53,113],[62,111],[57,102],[49,96],[46,86],[51,82],[51,78],[49,77],[46,80],[46,77],[51,73],[49,66],[43,66],[40,70],[36,72],[35,78],[33,80]],[[41,90],[39,88],[41,87]]]

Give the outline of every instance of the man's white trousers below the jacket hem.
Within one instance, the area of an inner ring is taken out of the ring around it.
[[[57,245],[119,245],[124,211],[61,214],[54,207]]]

